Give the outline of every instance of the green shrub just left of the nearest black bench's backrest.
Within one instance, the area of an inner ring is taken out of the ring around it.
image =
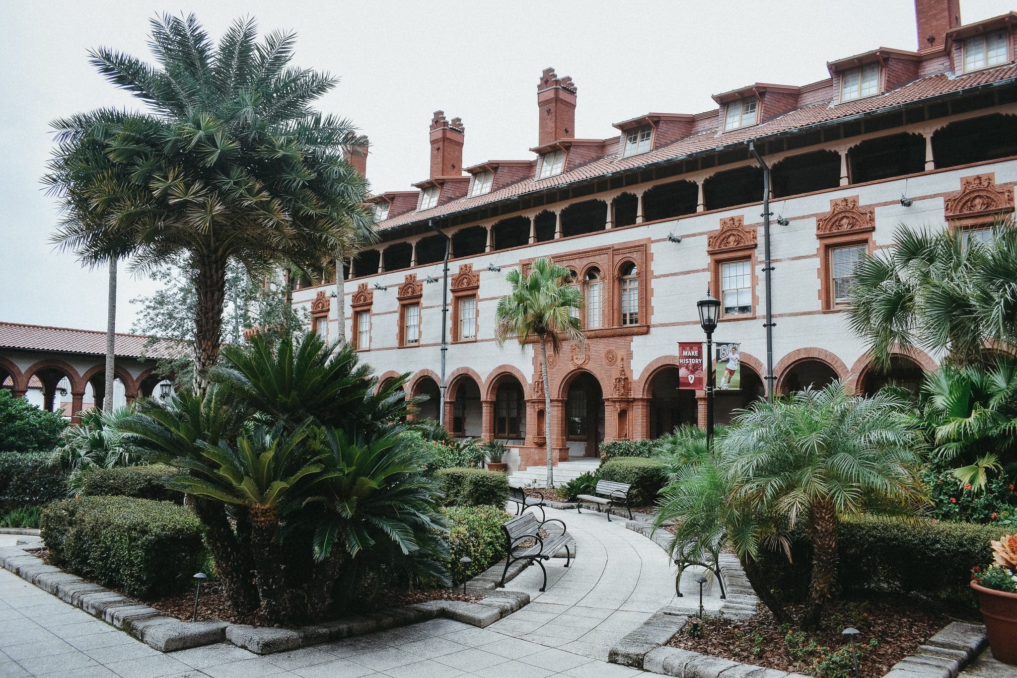
[[[466,576],[480,574],[505,557],[504,534],[501,526],[512,516],[498,506],[450,506],[441,509],[448,518],[448,562],[453,577],[463,580],[460,558],[472,561]]]

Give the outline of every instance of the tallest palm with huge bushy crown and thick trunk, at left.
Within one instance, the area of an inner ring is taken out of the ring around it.
[[[147,111],[120,114],[104,129],[103,153],[125,180],[92,193],[109,214],[99,224],[64,223],[55,238],[88,260],[126,239],[141,270],[184,259],[197,296],[199,390],[219,358],[230,260],[255,274],[287,262],[320,269],[324,253],[372,235],[366,180],[344,156],[363,137],[310,108],[337,79],[290,66],[294,42],[281,33],[258,42],[253,19],[242,19],[215,46],[193,14],[166,15],[152,21],[157,66],[109,48],[91,53],[99,71]],[[61,137],[87,134],[80,121],[58,121]],[[54,185],[66,202],[71,188]]]

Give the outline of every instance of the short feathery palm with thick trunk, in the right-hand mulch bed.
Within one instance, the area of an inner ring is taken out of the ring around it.
[[[917,475],[921,436],[890,392],[850,395],[839,381],[787,399],[758,400],[719,441],[734,507],[757,525],[803,521],[813,546],[809,601],[801,617],[815,628],[837,572],[837,521],[883,503],[908,510],[923,500]],[[758,529],[735,530],[735,548],[753,554]],[[740,542],[740,543],[739,543]]]

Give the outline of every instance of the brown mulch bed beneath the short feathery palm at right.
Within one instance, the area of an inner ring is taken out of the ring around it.
[[[788,610],[796,617],[801,606],[788,606]],[[951,621],[969,620],[964,614],[958,617],[955,613],[912,602],[836,601],[828,606],[818,631],[788,638],[789,629],[781,628],[761,605],[760,612],[751,619],[704,618],[698,638],[692,637],[692,624],[686,624],[668,644],[744,664],[819,676],[824,674],[813,668],[814,662],[846,645],[841,631],[853,626],[860,631],[855,636],[859,675],[879,678],[904,657],[913,655],[919,644]],[[871,646],[874,638],[877,644]]]

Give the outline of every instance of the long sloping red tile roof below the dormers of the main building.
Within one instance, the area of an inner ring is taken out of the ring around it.
[[[839,106],[834,106],[834,102],[832,101],[804,106],[753,127],[745,127],[722,134],[718,134],[717,128],[698,132],[666,146],[639,156],[630,158],[620,158],[613,153],[604,156],[555,177],[537,181],[525,179],[499,190],[491,191],[486,195],[460,198],[431,209],[399,214],[380,222],[377,228],[379,231],[383,231],[414,222],[422,222],[427,219],[445,217],[456,212],[475,209],[485,204],[517,198],[527,193],[563,187],[584,179],[592,179],[658,162],[678,160],[706,150],[743,143],[750,139],[757,139],[810,125],[849,118],[854,115],[874,113],[880,109],[890,109],[903,104],[914,104],[942,95],[959,93],[963,89],[988,83],[999,83],[1013,78],[1017,78],[1017,65],[1015,64],[989,68],[968,75],[955,76],[953,73],[938,73],[919,78],[877,97],[870,97]]]

